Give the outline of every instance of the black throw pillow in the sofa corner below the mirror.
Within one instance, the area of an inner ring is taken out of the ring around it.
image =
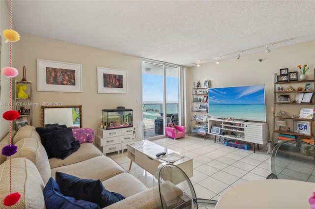
[[[80,142],[72,135],[72,129],[59,129],[41,135],[48,158],[66,158],[80,148]]]

